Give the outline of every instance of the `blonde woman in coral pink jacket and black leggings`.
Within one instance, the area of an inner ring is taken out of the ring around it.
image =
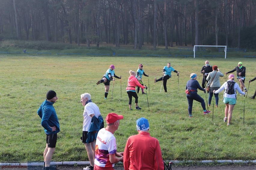
[[[133,110],[132,109],[132,97],[135,98],[135,109],[137,110],[140,110],[141,108],[138,106],[138,95],[136,93],[136,86],[139,86],[141,87],[142,89],[148,89],[147,86],[142,86],[139,81],[137,80],[137,78],[135,77],[136,76],[136,73],[132,70],[129,71],[130,73],[130,77],[128,78],[128,84],[127,84],[127,87],[126,87],[126,92],[128,94],[128,97],[129,97],[129,109],[130,110]]]

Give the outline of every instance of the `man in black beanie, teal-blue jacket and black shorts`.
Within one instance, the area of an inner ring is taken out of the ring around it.
[[[50,162],[55,151],[57,133],[59,132],[59,120],[53,107],[57,99],[56,92],[49,90],[46,94],[45,101],[37,110],[37,114],[41,118],[41,125],[44,127],[44,132],[46,133],[43,170],[55,169],[54,166],[50,166]]]

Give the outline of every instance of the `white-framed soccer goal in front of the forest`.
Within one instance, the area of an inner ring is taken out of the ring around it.
[[[227,57],[227,45],[194,45],[194,58],[200,57]]]

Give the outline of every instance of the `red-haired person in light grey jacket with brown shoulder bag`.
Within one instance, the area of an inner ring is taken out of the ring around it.
[[[209,106],[211,106],[213,90],[218,90],[220,88],[220,86],[221,86],[220,77],[224,76],[224,74],[221,73],[220,69],[218,69],[218,66],[216,66],[216,65],[212,66],[212,70],[213,71],[210,72],[206,78],[206,80],[208,81],[206,86],[210,86],[209,99],[208,99]],[[214,97],[215,97],[215,106],[218,107],[219,94],[218,93],[214,94]]]

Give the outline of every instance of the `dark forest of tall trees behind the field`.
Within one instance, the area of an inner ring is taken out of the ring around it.
[[[256,48],[256,0],[1,0],[0,40]]]

